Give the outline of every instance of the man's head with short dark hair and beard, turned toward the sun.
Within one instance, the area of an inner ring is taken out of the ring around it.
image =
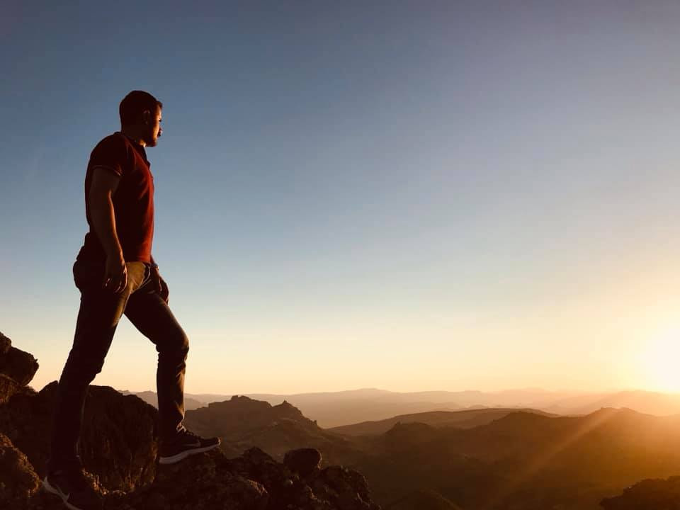
[[[120,101],[120,130],[146,147],[155,147],[162,134],[163,103],[145,91],[132,91]]]

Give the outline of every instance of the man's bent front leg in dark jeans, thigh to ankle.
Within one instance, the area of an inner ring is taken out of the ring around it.
[[[184,429],[188,338],[151,280],[130,296],[125,316],[156,345],[159,434],[162,441],[171,441]]]

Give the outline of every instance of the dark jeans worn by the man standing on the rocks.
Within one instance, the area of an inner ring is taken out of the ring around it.
[[[159,295],[142,262],[129,262],[128,286],[119,294],[103,289],[103,266],[77,261],[74,280],[81,292],[73,347],[59,380],[52,426],[50,469],[78,462],[78,440],[87,387],[101,372],[120,317],[125,314],[158,351],[156,385],[159,434],[169,440],[183,430],[184,371],[189,343]]]

